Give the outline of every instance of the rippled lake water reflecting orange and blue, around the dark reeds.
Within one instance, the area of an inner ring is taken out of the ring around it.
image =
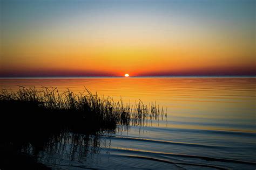
[[[65,134],[38,161],[53,168],[255,169],[256,79],[236,77],[131,77],[1,79],[18,86],[85,87],[114,101],[157,102],[167,116],[144,126],[118,126],[100,136]]]

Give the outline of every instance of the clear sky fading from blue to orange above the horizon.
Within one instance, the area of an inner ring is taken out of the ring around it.
[[[256,75],[256,1],[0,2],[2,77]]]

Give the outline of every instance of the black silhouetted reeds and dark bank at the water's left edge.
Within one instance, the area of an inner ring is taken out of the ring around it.
[[[33,159],[43,148],[49,148],[50,141],[63,140],[63,134],[114,133],[117,126],[147,125],[148,121],[163,119],[166,114],[156,103],[149,107],[142,101],[123,104],[122,99],[114,102],[111,97],[99,97],[87,89],[75,94],[69,89],[59,93],[57,88],[46,87],[2,90],[0,107],[0,147],[5,157],[2,167],[10,168],[15,166],[12,162],[19,162],[19,167],[26,169],[28,164],[31,169],[44,168]],[[83,142],[86,143],[84,137]],[[34,157],[24,155],[31,148]]]

